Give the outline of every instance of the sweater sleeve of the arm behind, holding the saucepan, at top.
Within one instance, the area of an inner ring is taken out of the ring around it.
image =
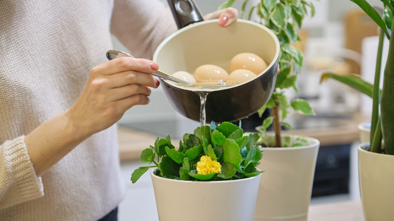
[[[152,59],[157,46],[177,30],[169,7],[159,0],[116,0],[111,33],[134,57]]]

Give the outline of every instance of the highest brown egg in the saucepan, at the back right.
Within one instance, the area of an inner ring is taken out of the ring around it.
[[[244,52],[234,56],[230,61],[230,72],[237,69],[246,69],[256,75],[262,73],[268,67],[267,63],[257,54]]]

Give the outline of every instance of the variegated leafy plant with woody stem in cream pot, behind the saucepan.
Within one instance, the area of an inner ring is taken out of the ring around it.
[[[235,1],[228,0],[220,8],[230,7]],[[281,128],[292,130],[291,125],[284,122],[290,109],[302,115],[316,115],[308,101],[294,99],[290,102],[285,94],[288,88],[298,90],[297,75],[304,58],[294,44],[301,40],[297,31],[309,13],[314,15],[314,6],[304,0],[244,0],[242,4],[241,17],[271,29],[278,37],[281,49],[275,90],[259,111],[261,115],[266,108],[271,108],[272,116],[258,127],[259,142],[265,146],[259,168],[266,172],[260,181],[255,220],[307,219],[320,143],[314,138],[282,135]],[[273,136],[266,133],[271,124]]]

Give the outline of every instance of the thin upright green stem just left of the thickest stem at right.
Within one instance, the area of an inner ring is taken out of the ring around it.
[[[380,102],[380,70],[382,66],[382,51],[383,51],[383,42],[384,42],[384,37],[386,35],[384,34],[383,30],[380,30],[380,35],[379,35],[379,45],[378,45],[378,51],[377,51],[377,56],[376,56],[376,68],[375,68],[375,79],[373,83],[373,93],[372,93],[372,117],[371,117],[371,134],[370,134],[370,142],[371,145],[374,143],[377,144],[378,142],[375,142],[374,136],[375,136],[375,130],[376,126],[378,124],[379,120],[379,102]],[[380,149],[379,147],[376,146],[371,146],[371,149]]]

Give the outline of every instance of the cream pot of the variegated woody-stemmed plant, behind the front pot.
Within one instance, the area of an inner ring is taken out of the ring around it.
[[[255,221],[308,219],[320,142],[306,139],[308,146],[264,148]]]

